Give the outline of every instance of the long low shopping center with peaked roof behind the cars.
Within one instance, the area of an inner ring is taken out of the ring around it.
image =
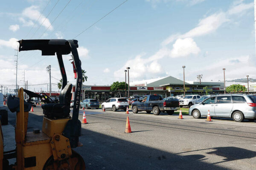
[[[185,82],[185,93],[205,95],[205,86],[210,94],[224,93],[224,82]],[[128,88],[128,87],[127,87]],[[73,95],[75,86],[73,86]],[[137,82],[130,82],[130,96],[143,96],[148,94],[157,94],[162,97],[176,96],[183,94],[183,81],[175,77],[162,77],[157,79],[148,79]],[[103,102],[111,97],[125,97],[125,91],[110,91],[109,85],[83,85],[81,99],[98,99]],[[126,91],[128,96],[128,90]]]

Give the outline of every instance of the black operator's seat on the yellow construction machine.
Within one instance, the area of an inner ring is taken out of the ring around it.
[[[67,84],[59,95],[59,103],[47,103],[42,105],[44,116],[49,119],[60,119],[70,116],[72,84]]]

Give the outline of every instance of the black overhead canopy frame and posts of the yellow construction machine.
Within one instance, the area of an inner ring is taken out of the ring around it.
[[[78,41],[77,40],[20,40],[19,51],[29,50],[41,50],[42,56],[46,55],[57,55],[59,67],[61,70],[62,87],[63,89],[67,85],[67,75],[64,68],[62,55],[70,54],[73,55],[73,62],[77,72],[76,78],[76,90],[74,98],[74,107],[72,119],[67,122],[67,125],[63,131],[63,135],[70,139],[70,145],[72,148],[78,146],[79,136],[81,136],[81,122],[79,120],[79,105],[81,97],[82,87],[82,69],[81,61],[77,52]]]

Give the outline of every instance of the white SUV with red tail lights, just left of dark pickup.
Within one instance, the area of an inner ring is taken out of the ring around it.
[[[124,110],[129,108],[129,103],[125,98],[110,98],[106,102],[102,103],[102,110],[105,109],[112,109],[113,111],[116,110]]]

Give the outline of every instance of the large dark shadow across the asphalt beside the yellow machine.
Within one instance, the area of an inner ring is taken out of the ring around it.
[[[204,162],[204,155],[179,156],[172,150],[163,151],[145,142],[137,144],[82,128],[83,147],[75,148],[85,161],[88,170],[228,170]],[[125,138],[126,138],[125,137]],[[164,149],[164,148],[163,148]]]

